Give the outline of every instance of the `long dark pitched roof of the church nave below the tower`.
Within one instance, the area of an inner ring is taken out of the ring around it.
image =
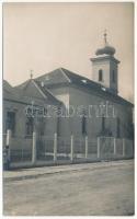
[[[48,80],[46,80],[46,78]],[[55,80],[57,79],[57,80]],[[96,91],[98,93],[109,96],[118,103],[134,106],[130,102],[121,97],[119,95],[112,93],[109,89],[104,88],[98,82],[94,82],[85,77],[73,73],[65,68],[56,69],[49,73],[43,74],[36,78],[38,81],[43,81],[47,88],[54,87],[55,84],[77,84],[79,88],[90,89]]]

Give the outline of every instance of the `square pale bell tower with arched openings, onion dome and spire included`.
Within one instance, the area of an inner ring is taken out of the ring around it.
[[[110,92],[118,93],[118,64],[119,61],[114,57],[115,48],[107,43],[107,34],[104,32],[104,47],[95,51],[95,57],[91,58],[92,61],[92,76],[93,80]]]

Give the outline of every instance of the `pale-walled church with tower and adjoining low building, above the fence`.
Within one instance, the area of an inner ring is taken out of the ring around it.
[[[118,95],[115,53],[104,34],[104,47],[90,59],[92,80],[59,68],[14,88],[4,81],[3,132],[132,138],[134,105]]]

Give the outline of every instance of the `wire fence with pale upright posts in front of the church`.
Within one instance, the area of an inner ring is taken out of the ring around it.
[[[133,158],[133,141],[114,137],[88,138],[70,136],[8,136],[3,135],[3,145],[9,143],[11,162],[30,161],[100,161]]]

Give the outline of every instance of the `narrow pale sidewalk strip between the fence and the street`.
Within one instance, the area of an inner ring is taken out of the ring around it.
[[[32,169],[22,169],[14,171],[3,171],[3,182],[21,181],[27,178],[37,178],[49,174],[61,174],[67,172],[78,172],[83,170],[96,170],[109,166],[122,166],[129,165],[134,160],[126,161],[109,161],[98,163],[81,163],[81,164],[69,164],[69,165],[56,165],[56,166],[42,166]]]

